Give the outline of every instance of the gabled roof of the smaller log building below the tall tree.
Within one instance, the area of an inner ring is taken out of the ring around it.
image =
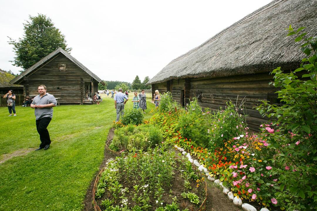
[[[11,84],[20,84],[23,82],[23,77],[28,75],[31,71],[35,70],[37,67],[43,65],[46,65],[46,62],[54,57],[57,53],[64,54],[68,59],[70,59],[72,62],[74,62],[78,67],[80,67],[83,71],[85,71],[88,75],[90,75],[92,78],[94,78],[96,81],[101,82],[101,79],[96,76],[92,71],[88,70],[87,67],[85,67],[83,64],[81,64],[77,59],[72,57],[69,53],[67,53],[64,49],[61,47],[57,48],[55,51],[38,61],[36,64],[32,65],[29,69],[18,75],[16,78],[10,81]]]

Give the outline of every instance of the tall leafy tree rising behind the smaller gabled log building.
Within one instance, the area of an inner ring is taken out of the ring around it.
[[[15,41],[9,37],[10,41],[8,41],[13,45],[13,52],[16,54],[14,61],[10,61],[14,66],[26,70],[58,47],[67,52],[72,50],[67,47],[65,36],[58,28],[55,28],[49,17],[42,14],[29,16],[29,21],[23,25],[23,38]]]

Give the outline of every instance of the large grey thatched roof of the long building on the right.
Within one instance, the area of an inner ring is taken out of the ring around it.
[[[147,84],[295,68],[304,54],[286,28],[317,35],[317,0],[275,0],[172,60]]]

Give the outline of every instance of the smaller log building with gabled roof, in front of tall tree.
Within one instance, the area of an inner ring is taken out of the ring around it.
[[[61,104],[92,103],[88,100],[90,92],[98,91],[98,76],[88,70],[62,48],[56,49],[35,65],[10,81],[22,84],[25,95],[38,95],[37,88],[43,84],[47,92],[60,98]]]

